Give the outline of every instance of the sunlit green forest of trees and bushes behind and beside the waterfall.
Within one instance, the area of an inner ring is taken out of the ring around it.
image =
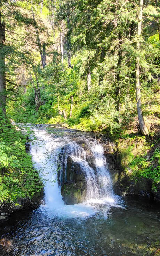
[[[19,162],[26,139],[10,119],[101,131],[124,168],[157,184],[159,56],[158,0],[1,0],[1,201],[14,201],[28,175],[21,196],[41,188],[31,158]]]

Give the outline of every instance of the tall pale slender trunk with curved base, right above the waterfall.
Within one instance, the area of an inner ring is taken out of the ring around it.
[[[141,27],[142,27],[142,9],[143,9],[143,0],[139,0],[139,15],[138,15],[138,27],[137,27],[137,44],[136,49],[140,49],[140,36],[141,36]],[[141,90],[140,90],[140,80],[139,80],[139,56],[136,57],[135,63],[135,75],[136,75],[136,102],[137,102],[137,114],[139,120],[139,127],[143,135],[149,134],[149,131],[145,125],[142,107],[141,107]]]

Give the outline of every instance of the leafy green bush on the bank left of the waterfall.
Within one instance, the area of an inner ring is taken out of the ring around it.
[[[40,192],[42,182],[26,153],[26,137],[0,115],[0,204],[16,203]]]

